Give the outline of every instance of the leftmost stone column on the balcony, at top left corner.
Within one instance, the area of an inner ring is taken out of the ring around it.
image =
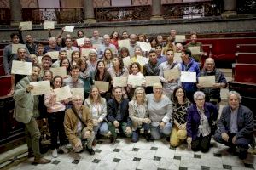
[[[10,0],[11,26],[19,26],[22,21],[22,7],[20,0]]]

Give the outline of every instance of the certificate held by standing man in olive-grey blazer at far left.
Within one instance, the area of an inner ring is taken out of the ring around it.
[[[42,95],[50,93],[50,83],[47,81],[39,81],[39,82],[30,82],[30,85],[33,86],[31,90],[32,95]]]

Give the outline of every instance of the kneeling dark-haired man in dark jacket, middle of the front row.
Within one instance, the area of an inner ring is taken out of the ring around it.
[[[117,133],[116,129],[125,136],[131,137],[131,119],[129,117],[129,99],[123,98],[122,88],[113,88],[113,99],[109,99],[107,103],[107,119],[108,129],[112,134],[110,139],[111,144],[116,143]]]

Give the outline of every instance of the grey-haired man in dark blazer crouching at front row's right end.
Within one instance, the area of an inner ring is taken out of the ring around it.
[[[218,131],[213,139],[230,147],[235,153],[239,150],[239,158],[247,158],[248,144],[254,144],[253,112],[241,105],[241,96],[236,91],[228,94],[228,106],[225,106],[218,121]]]

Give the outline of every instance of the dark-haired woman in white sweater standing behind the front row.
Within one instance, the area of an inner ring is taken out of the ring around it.
[[[138,86],[145,86],[146,79],[141,73],[141,65],[137,62],[131,64],[131,74],[128,76],[127,81],[127,92],[128,97],[131,99],[132,95],[134,94],[135,88]]]

